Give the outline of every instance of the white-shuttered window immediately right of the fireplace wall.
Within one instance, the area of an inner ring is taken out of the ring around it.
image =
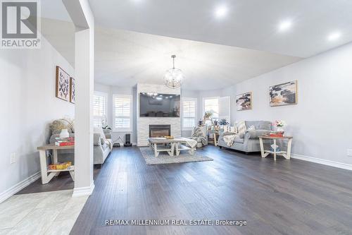
[[[196,126],[196,98],[182,98],[182,130],[192,130]]]

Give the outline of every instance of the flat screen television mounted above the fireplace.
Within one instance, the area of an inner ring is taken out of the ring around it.
[[[139,116],[180,116],[180,95],[144,92],[139,98]]]

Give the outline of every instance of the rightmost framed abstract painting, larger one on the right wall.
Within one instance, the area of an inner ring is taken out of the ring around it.
[[[297,80],[272,85],[269,92],[271,107],[297,104]]]

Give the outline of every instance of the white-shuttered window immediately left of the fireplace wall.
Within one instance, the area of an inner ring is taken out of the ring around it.
[[[113,95],[113,129],[132,131],[132,95]]]

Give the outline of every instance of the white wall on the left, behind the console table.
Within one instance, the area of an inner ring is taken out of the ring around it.
[[[44,37],[42,49],[1,49],[0,196],[39,171],[37,146],[49,140],[49,123],[74,116],[74,105],[55,97],[56,65],[75,77],[70,64]]]

